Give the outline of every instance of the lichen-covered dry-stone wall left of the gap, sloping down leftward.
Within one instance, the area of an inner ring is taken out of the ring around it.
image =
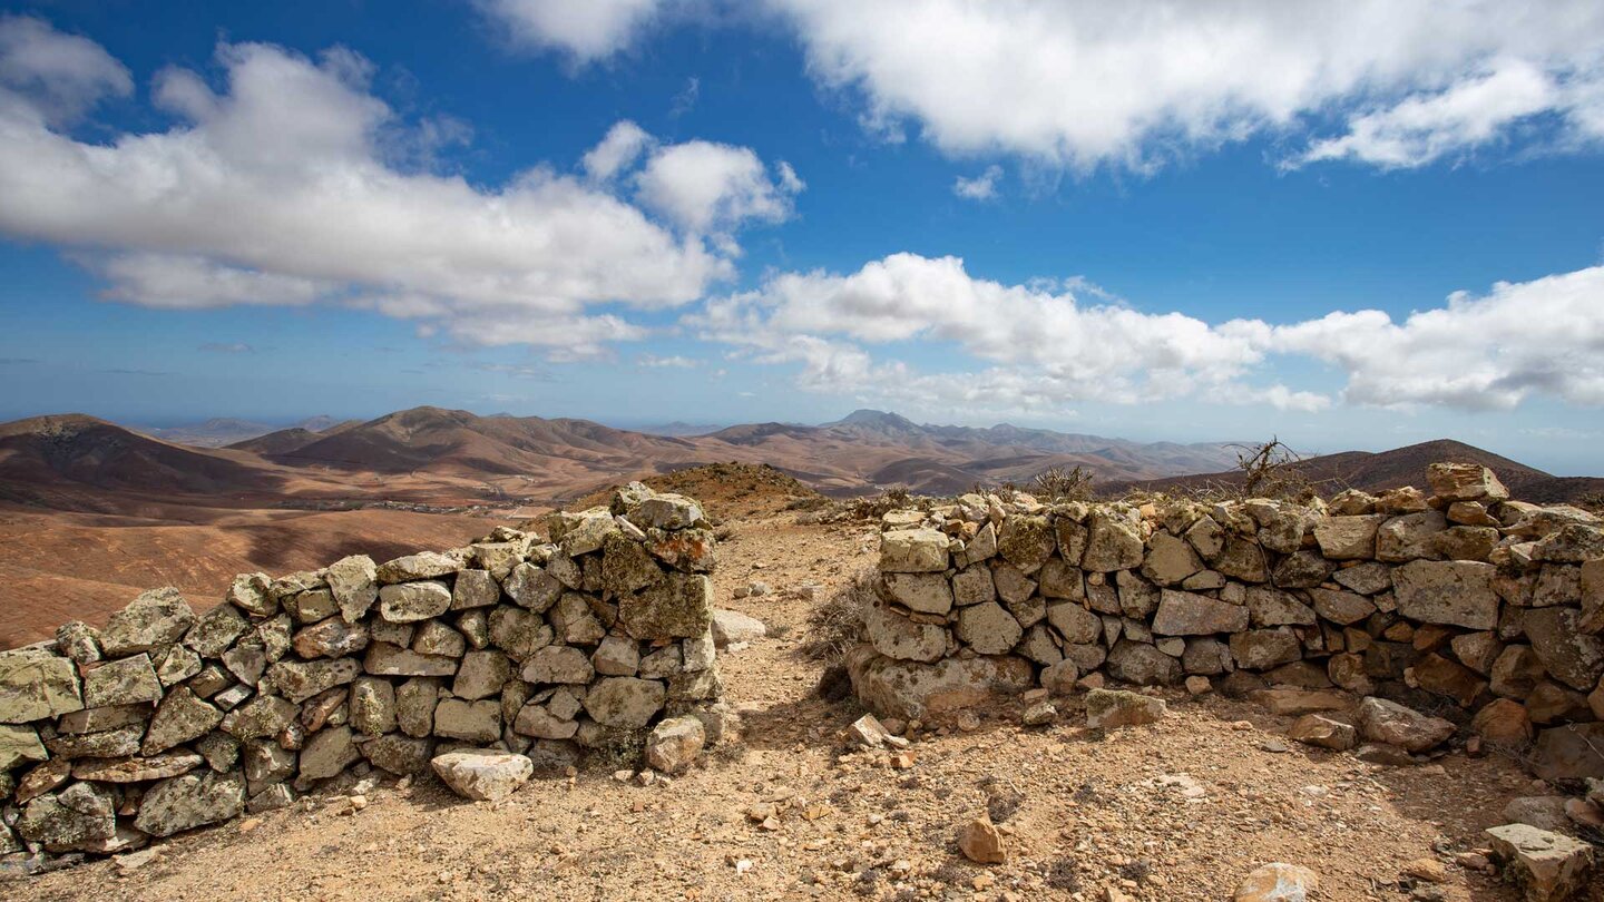
[[[0,854],[119,852],[460,748],[561,770],[664,722],[717,738],[701,507],[632,483],[544,525],[244,575],[202,615],[156,589],[0,653]]]

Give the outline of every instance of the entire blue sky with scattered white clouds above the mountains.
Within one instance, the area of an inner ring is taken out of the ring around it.
[[[1604,473],[1604,5],[0,3],[0,419]]]

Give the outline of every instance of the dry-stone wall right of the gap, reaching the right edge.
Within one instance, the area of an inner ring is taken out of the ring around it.
[[[895,717],[1088,674],[1424,692],[1492,742],[1535,732],[1556,774],[1604,769],[1604,525],[1511,501],[1485,467],[1428,478],[1431,496],[1314,506],[966,494],[890,514],[853,685]]]

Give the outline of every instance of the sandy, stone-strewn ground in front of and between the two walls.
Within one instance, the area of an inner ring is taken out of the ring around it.
[[[1266,862],[1320,876],[1320,899],[1505,900],[1461,867],[1505,806],[1541,794],[1516,762],[1447,756],[1391,769],[1285,740],[1290,717],[1166,693],[1153,725],[914,732],[906,756],[857,751],[860,714],[818,697],[808,613],[874,562],[874,528],[797,525],[739,501],[720,607],[770,626],[723,656],[744,743],[672,782],[606,762],[464,802],[435,780],[380,780],[202,830],[133,857],[13,881],[6,899],[1229,899]],[[709,509],[719,510],[717,501]],[[728,515],[728,514],[727,514]],[[764,583],[772,591],[736,599]],[[823,591],[797,592],[807,584]],[[743,592],[744,594],[744,592]],[[959,830],[988,814],[1009,860],[978,867]],[[1604,889],[1594,891],[1604,899]]]

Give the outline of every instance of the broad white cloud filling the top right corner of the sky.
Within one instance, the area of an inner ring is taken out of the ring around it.
[[[1440,154],[1537,111],[1564,120],[1562,140],[1604,136],[1599,3],[768,2],[813,75],[860,95],[868,122],[895,133],[913,120],[953,154],[1147,169],[1330,117],[1383,141],[1402,127]],[[1564,90],[1535,96],[1514,83],[1522,67]],[[1368,159],[1363,143],[1327,156]]]

